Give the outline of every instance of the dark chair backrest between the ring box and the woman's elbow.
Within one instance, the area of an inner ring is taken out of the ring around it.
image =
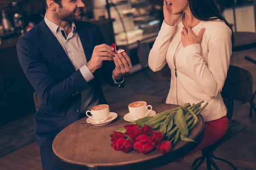
[[[137,41],[138,49],[137,49],[137,55],[140,60],[141,67],[147,68],[148,67],[148,56],[150,53],[150,46],[147,42],[141,43],[140,41]]]

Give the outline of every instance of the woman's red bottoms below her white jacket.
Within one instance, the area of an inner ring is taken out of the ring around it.
[[[220,119],[213,120],[210,122],[204,122],[204,138],[202,142],[198,144],[198,146],[186,156],[192,155],[193,153],[196,153],[199,150],[202,150],[205,147],[212,145],[218,140],[220,140],[224,136],[224,134],[227,132],[227,127],[228,127],[227,116],[224,116]],[[183,159],[184,158],[180,160],[183,160]]]

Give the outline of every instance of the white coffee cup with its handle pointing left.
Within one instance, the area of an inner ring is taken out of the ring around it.
[[[88,112],[92,114],[92,116],[88,115]],[[96,105],[91,108],[90,111],[86,112],[86,115],[96,122],[105,122],[109,117],[109,106],[108,105]]]

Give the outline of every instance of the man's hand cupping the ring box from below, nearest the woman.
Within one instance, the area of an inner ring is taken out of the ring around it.
[[[114,62],[116,68],[113,70],[113,78],[118,81],[132,68],[131,59],[125,52],[123,52],[122,54],[115,54]]]

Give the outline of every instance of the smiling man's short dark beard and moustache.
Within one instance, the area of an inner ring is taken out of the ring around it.
[[[78,9],[76,9],[76,10],[78,10]],[[67,9],[60,8],[58,13],[55,13],[55,15],[61,21],[67,21],[67,22],[81,21],[82,20],[82,15],[81,14],[76,15],[75,14],[76,10],[70,12]],[[80,8],[80,11],[81,11],[81,8]]]

